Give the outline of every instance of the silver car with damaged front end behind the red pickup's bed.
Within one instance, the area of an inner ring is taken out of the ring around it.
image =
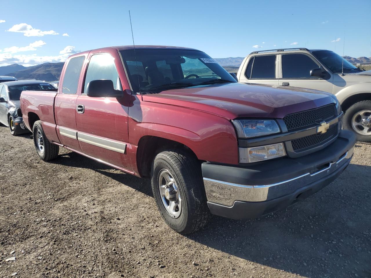
[[[19,98],[25,90],[52,90],[56,89],[45,81],[22,80],[0,83],[0,122],[9,126],[12,135],[28,133],[23,125]]]

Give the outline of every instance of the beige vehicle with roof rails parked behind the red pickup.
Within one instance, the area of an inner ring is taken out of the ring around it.
[[[293,86],[334,94],[344,111],[343,128],[371,142],[371,70],[364,71],[329,50],[254,51],[242,62],[241,83]]]

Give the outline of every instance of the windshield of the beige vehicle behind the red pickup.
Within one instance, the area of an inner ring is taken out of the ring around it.
[[[342,69],[344,69],[345,73],[362,71],[335,52],[329,50],[319,50],[313,51],[312,53],[333,73],[341,73]]]

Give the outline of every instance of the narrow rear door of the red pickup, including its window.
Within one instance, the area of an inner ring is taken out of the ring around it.
[[[81,148],[77,140],[76,100],[84,60],[85,56],[69,60],[63,80],[61,80],[62,87],[59,88],[55,99],[55,118],[59,139],[63,145],[77,152],[81,152]]]

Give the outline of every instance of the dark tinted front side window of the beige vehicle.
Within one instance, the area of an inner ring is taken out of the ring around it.
[[[282,55],[283,78],[312,78],[310,75],[310,71],[318,67],[318,64],[316,64],[308,55]]]

